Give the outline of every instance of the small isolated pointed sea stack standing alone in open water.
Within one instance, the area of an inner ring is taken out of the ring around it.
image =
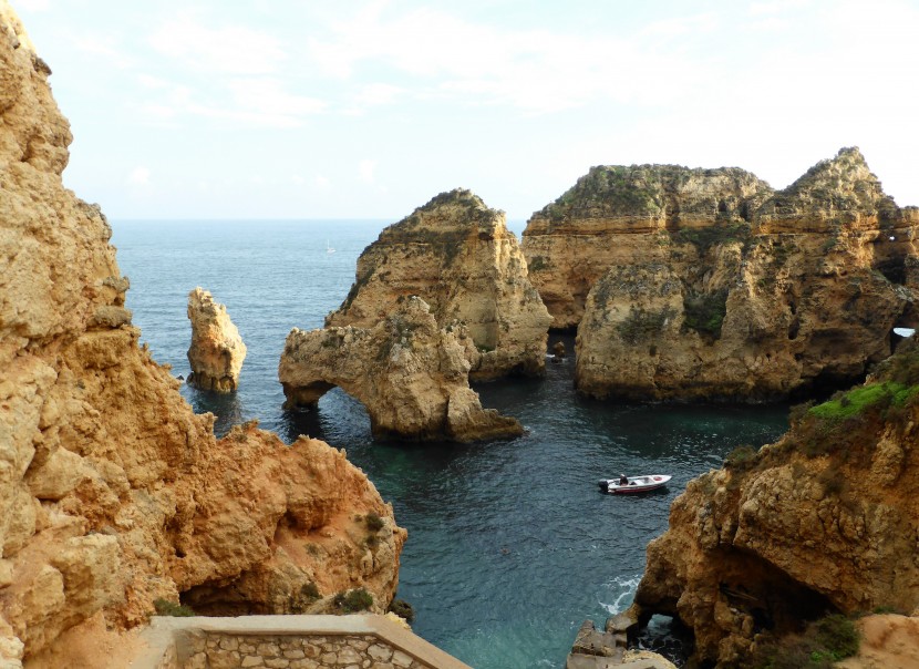
[[[198,287],[188,294],[188,320],[192,321],[188,383],[217,392],[236,390],[246,359],[246,344],[227,308]]]

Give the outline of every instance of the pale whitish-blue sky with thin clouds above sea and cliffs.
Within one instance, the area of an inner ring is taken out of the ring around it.
[[[859,146],[919,205],[917,0],[10,0],[113,219],[526,219],[592,165],[783,188]]]

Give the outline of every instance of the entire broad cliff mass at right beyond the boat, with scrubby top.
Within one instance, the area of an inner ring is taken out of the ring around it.
[[[779,193],[735,168],[595,167],[524,249],[555,326],[578,325],[581,392],[767,401],[863,379],[916,325],[917,226],[845,148]]]

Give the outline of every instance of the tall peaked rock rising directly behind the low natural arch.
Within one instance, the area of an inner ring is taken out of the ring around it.
[[[385,228],[361,254],[357,280],[326,325],[371,328],[412,295],[441,327],[468,328],[473,379],[545,369],[550,317],[504,213],[469,191],[442,193]]]

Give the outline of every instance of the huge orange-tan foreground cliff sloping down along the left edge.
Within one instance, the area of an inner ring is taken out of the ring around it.
[[[281,611],[304,584],[364,584],[385,606],[405,538],[391,508],[321,442],[215,440],[137,343],[111,228],[61,183],[68,123],[3,0],[0,60],[0,653],[14,665],[100,611],[137,625],[200,588],[217,609],[241,589]]]

